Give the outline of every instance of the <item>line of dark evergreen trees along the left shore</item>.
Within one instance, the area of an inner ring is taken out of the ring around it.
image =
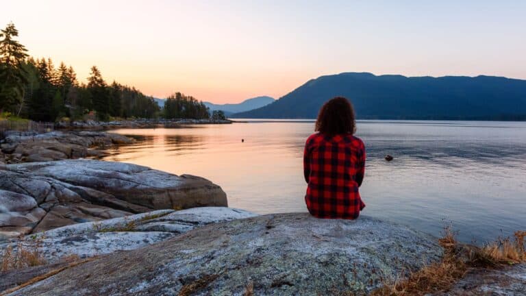
[[[97,66],[80,83],[72,66],[55,67],[51,59],[32,58],[15,38],[13,23],[0,30],[0,114],[10,112],[35,121],[64,117],[209,119],[208,108],[194,97],[175,93],[160,108],[153,97],[132,86],[108,84]]]

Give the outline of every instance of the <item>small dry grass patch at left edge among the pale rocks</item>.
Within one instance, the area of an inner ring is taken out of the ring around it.
[[[0,252],[1,264],[0,271],[10,271],[12,269],[23,269],[25,267],[34,267],[46,264],[46,260],[42,256],[40,247],[42,240],[34,240],[31,243],[25,243],[24,240],[19,241],[16,247],[8,245]]]

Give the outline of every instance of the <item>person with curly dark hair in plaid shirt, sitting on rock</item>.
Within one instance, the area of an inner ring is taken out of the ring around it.
[[[365,207],[358,193],[364,180],[365,147],[353,136],[356,123],[351,103],[344,97],[327,101],[315,131],[303,153],[307,208],[318,218],[356,219]]]

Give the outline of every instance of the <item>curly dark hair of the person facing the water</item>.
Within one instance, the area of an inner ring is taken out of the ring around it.
[[[322,134],[354,134],[356,121],[354,108],[345,97],[335,97],[321,106],[316,120],[316,132]]]

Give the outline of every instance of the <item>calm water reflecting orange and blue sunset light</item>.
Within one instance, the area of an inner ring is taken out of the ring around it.
[[[208,178],[231,207],[306,212],[303,145],[313,129],[313,121],[250,121],[116,130],[138,142],[105,159]],[[526,123],[359,121],[357,136],[367,150],[362,214],[434,235],[453,223],[465,242],[526,230]]]

